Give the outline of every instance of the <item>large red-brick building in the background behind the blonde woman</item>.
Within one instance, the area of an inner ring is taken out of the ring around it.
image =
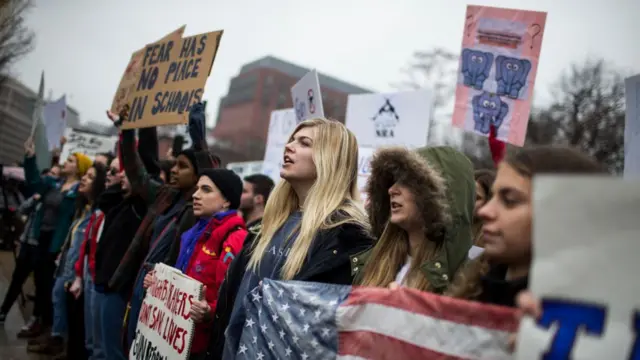
[[[291,87],[309,69],[267,56],[242,66],[220,99],[214,151],[225,162],[262,160],[271,112],[293,107]],[[344,123],[349,94],[370,90],[318,73],[325,116]]]

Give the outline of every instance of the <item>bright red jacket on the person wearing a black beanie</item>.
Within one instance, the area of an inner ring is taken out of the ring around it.
[[[211,236],[207,237],[206,235],[209,233]],[[247,233],[244,221],[237,214],[228,215],[221,220],[214,218],[207,224],[195,245],[185,275],[206,286],[204,298],[211,307],[211,315],[215,311],[218,290],[227,269],[231,261],[242,250]],[[223,240],[224,243],[221,244]],[[213,316],[211,318],[213,319]],[[207,349],[210,331],[210,323],[196,324],[191,353],[199,354]]]

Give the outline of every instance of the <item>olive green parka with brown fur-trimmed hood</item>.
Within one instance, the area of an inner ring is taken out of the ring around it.
[[[367,211],[373,235],[380,238],[389,220],[389,187],[400,178],[410,179],[406,185],[416,195],[423,222],[431,224],[426,229],[427,237],[441,237],[442,242],[434,258],[423,263],[421,269],[433,287],[432,291],[444,292],[465,263],[473,243],[475,180],[471,161],[449,146],[417,151],[389,148],[376,153],[370,168]],[[445,202],[439,200],[442,191],[446,194]],[[366,251],[352,257],[354,274],[362,276],[360,270],[369,255],[370,251]]]

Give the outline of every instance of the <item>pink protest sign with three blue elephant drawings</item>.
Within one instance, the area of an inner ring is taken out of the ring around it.
[[[524,144],[547,13],[467,7],[453,126]]]

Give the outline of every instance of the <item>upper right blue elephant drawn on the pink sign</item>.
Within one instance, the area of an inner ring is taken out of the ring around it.
[[[527,83],[529,71],[531,71],[529,60],[498,56],[496,58],[497,94],[517,99],[520,89]]]

